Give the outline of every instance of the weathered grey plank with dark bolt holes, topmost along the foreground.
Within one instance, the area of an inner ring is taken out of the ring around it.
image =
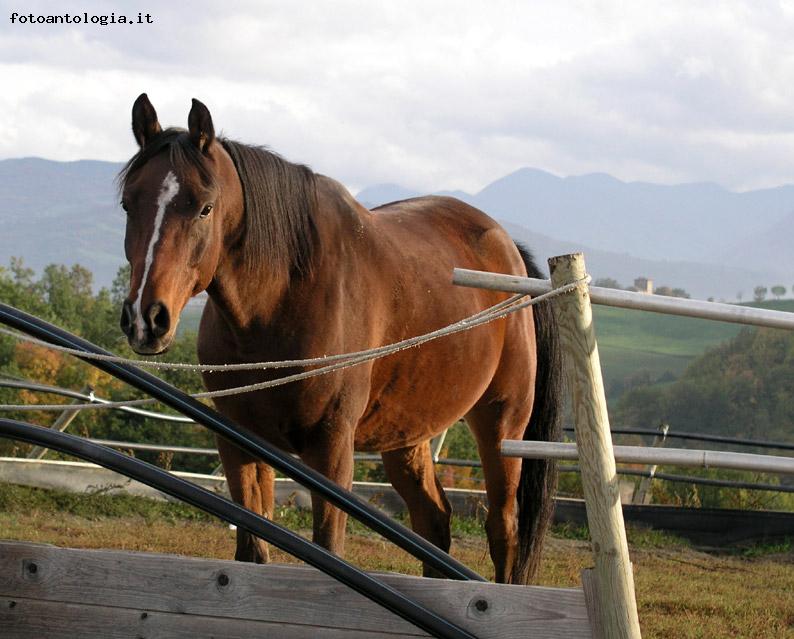
[[[590,637],[580,589],[382,575],[483,639]],[[0,596],[139,611],[422,636],[305,566],[0,543]]]

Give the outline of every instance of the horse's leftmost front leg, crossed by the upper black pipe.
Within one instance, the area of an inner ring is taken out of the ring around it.
[[[245,455],[235,446],[218,439],[218,451],[226,474],[226,483],[232,499],[268,519],[273,517],[275,474],[267,464]],[[237,561],[250,561],[258,564],[270,561],[268,545],[259,537],[237,529]]]

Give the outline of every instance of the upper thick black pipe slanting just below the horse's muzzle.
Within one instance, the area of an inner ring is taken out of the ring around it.
[[[0,303],[0,323],[45,342],[86,353],[109,355],[107,351],[38,317],[8,304]],[[85,359],[92,366],[113,375],[158,401],[170,406],[198,424],[209,428],[246,453],[261,459],[290,479],[314,491],[326,501],[345,511],[373,531],[383,535],[420,561],[450,579],[487,581],[484,577],[450,557],[447,553],[405,526],[393,521],[376,508],[344,490],[321,473],[268,443],[261,437],[224,417],[159,377],[130,364]],[[65,406],[68,408],[68,406]]]

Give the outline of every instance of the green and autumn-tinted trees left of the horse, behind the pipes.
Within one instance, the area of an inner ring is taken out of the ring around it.
[[[115,296],[126,296],[129,274],[120,270]],[[37,279],[33,270],[19,259],[8,267],[0,266],[0,300],[37,315],[91,342],[127,357],[134,356],[118,326],[119,304],[108,289],[94,293],[92,276],[85,268],[50,265]],[[195,334],[179,334],[161,360],[196,363]],[[42,346],[0,336],[0,376],[35,380],[45,384],[73,388],[90,385],[99,397],[122,400],[141,397],[142,393],[100,372],[70,355],[56,353]],[[185,370],[160,371],[158,376],[175,383],[187,392],[201,390],[199,375]],[[50,403],[54,399],[40,393],[0,388],[0,404]],[[57,413],[8,413],[7,416],[48,425]],[[197,426],[164,423],[117,411],[81,411],[70,426],[72,432],[103,439],[146,443],[170,442],[177,445],[208,448],[211,433]],[[16,454],[20,446],[0,438],[0,455]],[[156,452],[138,453],[138,457],[158,463]],[[209,472],[217,459],[212,456],[177,454],[174,466],[195,472]]]

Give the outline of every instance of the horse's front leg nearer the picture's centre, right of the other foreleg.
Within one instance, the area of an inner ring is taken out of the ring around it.
[[[301,459],[342,488],[353,487],[353,429],[318,429],[312,433]],[[342,555],[347,513],[312,493],[313,540]]]

